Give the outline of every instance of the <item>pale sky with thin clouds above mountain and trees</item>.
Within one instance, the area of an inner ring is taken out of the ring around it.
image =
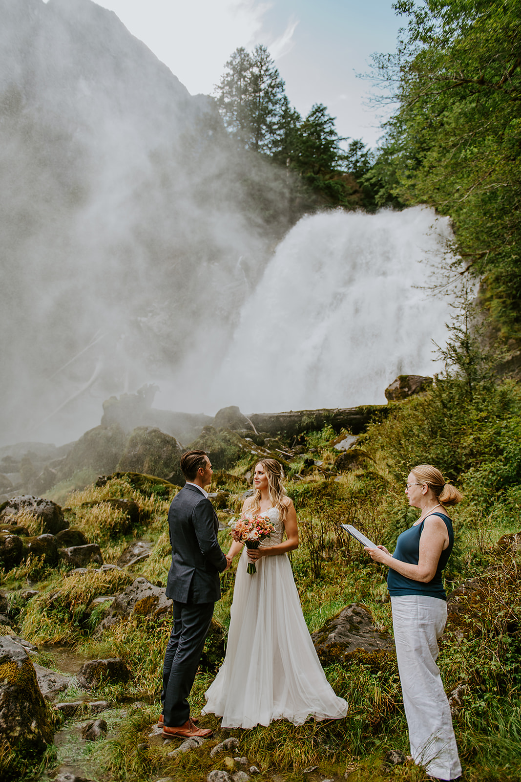
[[[324,103],[337,131],[376,146],[381,107],[368,106],[373,52],[393,52],[403,20],[392,0],[100,0],[192,95],[211,95],[238,46],[269,48],[291,105]]]

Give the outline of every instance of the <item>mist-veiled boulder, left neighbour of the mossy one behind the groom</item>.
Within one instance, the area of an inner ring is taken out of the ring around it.
[[[85,468],[98,473],[113,472],[123,454],[125,440],[125,432],[117,424],[89,429],[74,443],[62,461],[58,471],[59,479],[70,478],[74,472]]]

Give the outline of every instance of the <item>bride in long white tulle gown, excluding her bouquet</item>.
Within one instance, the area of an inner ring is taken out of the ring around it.
[[[287,551],[298,547],[297,515],[282,485],[282,468],[262,459],[253,477],[255,494],[246,516],[269,516],[275,527],[258,549],[241,554],[223,665],[205,693],[205,713],[223,717],[223,727],[252,728],[287,719],[341,719],[348,711],[327,682],[316,655],[295,587]],[[284,532],[286,540],[283,542]],[[242,543],[227,554],[233,561]],[[257,572],[246,572],[254,561]]]

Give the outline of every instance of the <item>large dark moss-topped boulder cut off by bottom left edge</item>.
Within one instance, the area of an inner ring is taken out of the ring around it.
[[[34,665],[24,647],[9,636],[0,637],[0,734],[18,752],[41,752],[53,739]]]

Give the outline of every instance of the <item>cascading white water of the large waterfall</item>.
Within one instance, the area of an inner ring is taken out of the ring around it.
[[[384,403],[400,374],[432,375],[444,344],[444,296],[432,266],[446,218],[403,212],[304,217],[278,246],[244,303],[223,364],[200,406],[244,412]],[[423,263],[422,263],[423,262]]]

